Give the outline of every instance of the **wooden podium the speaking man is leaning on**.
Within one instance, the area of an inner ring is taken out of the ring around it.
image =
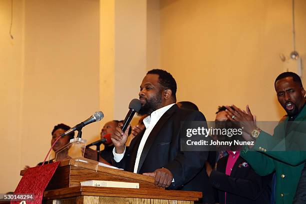
[[[86,162],[80,162],[86,161]],[[23,175],[26,170],[21,170]],[[139,189],[80,186],[85,180],[138,182]],[[43,203],[193,203],[201,192],[165,190],[154,185],[154,178],[124,170],[97,165],[90,159],[68,159],[60,162],[43,193]]]

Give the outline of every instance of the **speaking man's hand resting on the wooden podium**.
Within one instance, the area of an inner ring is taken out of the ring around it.
[[[158,187],[168,187],[173,179],[171,171],[167,168],[157,168],[154,172],[142,173],[155,178],[155,185]]]

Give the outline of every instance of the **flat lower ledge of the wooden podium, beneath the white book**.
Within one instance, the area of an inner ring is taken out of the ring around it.
[[[163,190],[161,193],[155,189],[77,186],[44,191],[43,203],[191,204],[194,200],[198,200],[200,195],[200,192],[194,191]]]

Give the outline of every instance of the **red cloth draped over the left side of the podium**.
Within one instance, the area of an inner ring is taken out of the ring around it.
[[[14,193],[34,194],[34,199],[25,200],[27,204],[38,204],[42,202],[43,191],[53,176],[60,161],[42,166],[35,166],[26,169],[26,172],[19,181]],[[20,201],[10,201],[10,204],[19,204]]]

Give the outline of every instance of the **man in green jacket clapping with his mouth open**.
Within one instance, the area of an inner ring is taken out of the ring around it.
[[[226,106],[227,117],[239,121],[247,133],[244,139],[254,142],[245,146],[240,155],[261,176],[275,171],[276,203],[291,204],[306,159],[305,90],[293,72],[279,74],[274,86],[288,117],[274,128],[273,136],[256,126],[248,106],[246,111]]]

